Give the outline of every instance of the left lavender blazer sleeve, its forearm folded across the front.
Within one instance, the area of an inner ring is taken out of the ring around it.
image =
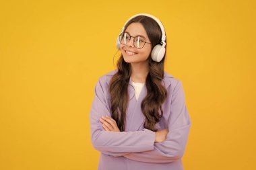
[[[104,78],[104,77],[103,77]],[[114,157],[127,155],[128,153],[150,151],[154,149],[155,132],[143,129],[134,132],[111,132],[102,128],[100,117],[110,115],[107,107],[106,93],[108,87],[106,81],[100,77],[94,87],[94,99],[90,108],[90,137],[96,150]]]

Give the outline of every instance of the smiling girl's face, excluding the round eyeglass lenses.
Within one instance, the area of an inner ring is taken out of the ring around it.
[[[131,23],[127,27],[125,32],[128,32],[133,37],[137,35],[144,36],[146,42],[150,42],[150,38],[148,38],[146,30],[143,28],[142,24],[140,24],[139,22]],[[127,42],[127,44],[120,44],[120,49],[123,54],[123,58],[125,62],[129,62],[129,63],[147,62],[146,60],[150,56],[150,52],[151,52],[151,44],[145,43],[143,48],[138,49],[133,45],[133,40],[134,40],[133,37],[131,37],[131,40]],[[132,52],[132,54],[127,51]]]

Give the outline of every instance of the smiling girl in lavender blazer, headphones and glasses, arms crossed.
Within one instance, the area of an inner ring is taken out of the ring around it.
[[[139,13],[117,38],[117,69],[102,75],[90,109],[98,170],[183,169],[191,120],[181,80],[164,71],[164,26]]]

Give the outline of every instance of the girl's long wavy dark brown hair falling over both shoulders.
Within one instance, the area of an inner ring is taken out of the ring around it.
[[[156,44],[160,44],[162,33],[154,19],[144,15],[139,15],[131,19],[125,25],[125,30],[129,24],[133,22],[139,22],[143,25],[143,28],[146,30],[146,33],[150,38],[150,42],[152,43],[151,51]],[[161,84],[162,79],[164,79],[165,56],[166,54],[164,54],[164,58],[160,62],[155,62],[152,60],[150,53],[150,56],[147,59],[149,66],[149,73],[146,77],[147,95],[141,101],[141,111],[146,117],[143,124],[144,128],[154,132],[158,131],[154,126],[159,122],[159,119],[163,115],[161,105],[164,103],[167,96],[167,91]],[[119,130],[125,131],[126,110],[129,102],[128,85],[131,77],[131,65],[130,63],[125,62],[122,54],[117,61],[117,69],[117,73],[113,75],[109,84],[111,111],[112,118],[117,122]]]

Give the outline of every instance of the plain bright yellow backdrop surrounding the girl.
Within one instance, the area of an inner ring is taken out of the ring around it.
[[[89,111],[129,17],[166,28],[192,126],[185,169],[256,169],[255,1],[1,1],[0,169],[96,169]],[[118,58],[117,53],[114,62]]]

